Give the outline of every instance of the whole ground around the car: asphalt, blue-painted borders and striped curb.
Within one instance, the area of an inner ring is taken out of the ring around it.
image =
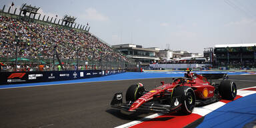
[[[128,113],[110,107],[117,92],[135,83],[147,90],[183,77],[182,71],[121,73],[91,79],[0,85],[0,127],[243,127],[256,119],[256,75],[228,73],[235,101],[195,107],[191,115]],[[253,106],[254,105],[254,106]],[[217,119],[217,121],[216,121]]]

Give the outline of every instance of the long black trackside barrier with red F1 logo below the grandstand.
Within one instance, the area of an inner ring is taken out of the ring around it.
[[[0,72],[0,85],[85,79],[124,73],[125,70]]]

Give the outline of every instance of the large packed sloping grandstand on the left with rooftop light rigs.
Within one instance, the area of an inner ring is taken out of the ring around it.
[[[39,7],[23,4],[19,13],[17,9],[10,13],[10,8],[5,11],[4,6],[0,11],[0,62],[5,63],[2,71],[15,71],[15,67],[17,71],[37,71],[39,65],[52,71],[59,64],[65,70],[125,69],[127,63],[131,64],[122,53],[89,33],[88,26],[77,25],[75,17],[65,15],[61,23],[61,19],[56,22],[57,17],[45,21],[45,16],[40,19],[37,13]],[[56,61],[55,53],[60,61]]]

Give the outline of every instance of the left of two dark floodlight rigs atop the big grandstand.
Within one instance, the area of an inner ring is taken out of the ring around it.
[[[31,14],[33,14],[33,19],[35,19],[35,15],[38,14],[37,11],[40,9],[40,7],[32,7],[31,5],[26,5],[26,3],[23,3],[20,9],[24,17],[26,17],[27,13],[29,13],[29,17],[31,16]],[[21,12],[19,13],[19,15],[21,15]]]

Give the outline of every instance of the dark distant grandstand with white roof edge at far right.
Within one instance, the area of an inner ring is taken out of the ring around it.
[[[256,67],[256,43],[215,45],[214,53],[215,67]]]

